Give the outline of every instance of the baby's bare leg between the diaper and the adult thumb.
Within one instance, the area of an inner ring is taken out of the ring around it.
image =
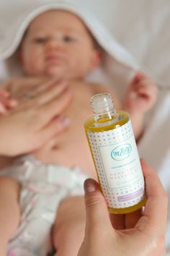
[[[68,197],[58,208],[53,230],[55,256],[76,256],[84,239],[84,197]]]

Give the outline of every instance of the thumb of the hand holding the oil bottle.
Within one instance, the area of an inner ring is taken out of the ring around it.
[[[99,184],[94,179],[86,179],[84,182],[86,205],[86,235],[95,236],[103,230],[111,230],[107,203],[104,200]]]

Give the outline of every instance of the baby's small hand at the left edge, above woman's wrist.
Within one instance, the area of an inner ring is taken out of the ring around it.
[[[17,101],[10,97],[7,90],[0,90],[0,115],[6,114],[17,106]]]

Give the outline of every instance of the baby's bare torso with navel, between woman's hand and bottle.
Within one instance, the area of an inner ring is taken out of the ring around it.
[[[37,158],[46,163],[89,168],[86,167],[86,162],[91,156],[84,132],[84,121],[92,115],[90,98],[91,93],[86,90],[76,93],[71,105],[63,113],[70,120],[70,124],[60,135],[53,137],[50,146],[47,143],[35,153]]]

